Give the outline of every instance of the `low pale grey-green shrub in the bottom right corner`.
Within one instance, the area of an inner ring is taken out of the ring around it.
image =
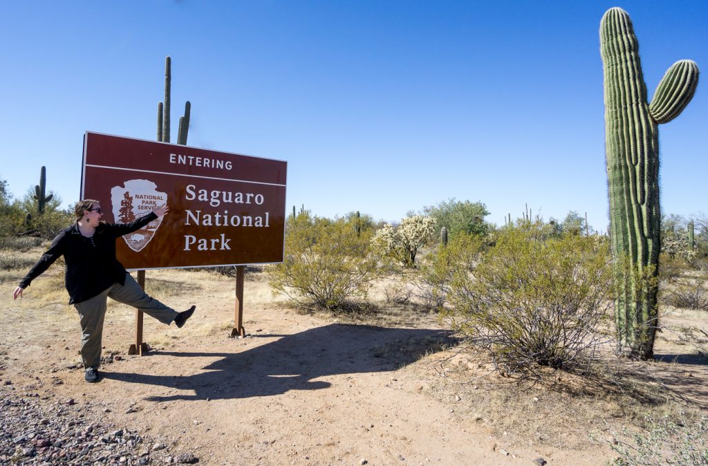
[[[612,465],[708,465],[708,417],[675,422],[645,416],[644,424],[644,431],[629,441],[610,443],[619,455]]]

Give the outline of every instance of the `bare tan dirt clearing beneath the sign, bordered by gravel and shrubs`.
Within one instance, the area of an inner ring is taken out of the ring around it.
[[[269,305],[256,289],[265,285],[246,282],[249,336],[230,339],[229,280],[200,286],[197,313],[183,329],[146,318],[145,339],[155,349],[144,357],[126,355],[132,310],[111,305],[104,355],[120,360],[103,365],[103,380],[92,385],[80,368],[67,369],[79,360],[72,309],[40,305],[29,288],[0,313],[0,378],[18,393],[39,390],[47,403],[73,398],[204,465],[534,465],[536,458],[598,465],[612,458],[603,443],[563,450],[495,438],[459,409],[464,399],[433,396],[439,375],[424,355],[445,336],[431,319],[421,328],[342,324]],[[4,283],[0,292],[12,288]],[[164,300],[178,309],[191,304],[184,295]]]

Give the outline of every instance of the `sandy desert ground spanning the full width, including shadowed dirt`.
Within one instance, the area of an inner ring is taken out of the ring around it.
[[[642,413],[708,404],[706,359],[670,331],[656,346],[663,362],[648,364],[648,392],[553,370],[520,387],[485,373],[433,312],[387,302],[385,284],[368,312],[307,312],[274,297],[264,273],[247,273],[246,337],[234,339],[235,279],[184,270],[147,272],[152,295],[197,310],[182,329],[146,316],[145,356],[127,354],[134,309],[109,300],[103,378],[89,384],[62,269],[13,301],[23,273],[0,284],[0,392],[139,433],[134,458],[102,457],[115,464],[602,465]],[[704,317],[670,319],[708,331]],[[1,458],[33,462],[15,450]]]

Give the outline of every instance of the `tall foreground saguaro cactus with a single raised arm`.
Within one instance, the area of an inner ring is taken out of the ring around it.
[[[650,358],[658,324],[658,125],[673,120],[691,100],[698,67],[690,60],[675,62],[648,103],[639,44],[622,8],[610,8],[600,21],[600,55],[618,344],[622,353]]]

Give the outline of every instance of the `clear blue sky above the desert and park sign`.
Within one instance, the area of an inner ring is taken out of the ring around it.
[[[79,198],[84,132],[287,160],[287,210],[399,220],[447,198],[607,229],[598,29],[629,12],[653,95],[708,70],[708,1],[5,1],[0,178]],[[708,89],[660,127],[664,212],[707,211]]]

